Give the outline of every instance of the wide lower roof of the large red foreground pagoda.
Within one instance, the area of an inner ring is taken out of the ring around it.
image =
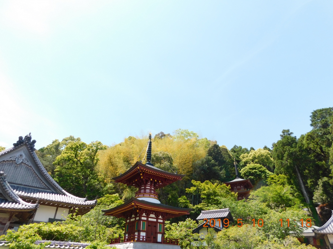
[[[128,200],[124,204],[119,205],[117,207],[110,208],[110,209],[102,210],[102,212],[105,212],[105,215],[111,215],[111,216],[120,218],[120,217],[125,217],[124,214],[126,212],[131,211],[133,209],[139,209],[139,208],[168,213],[168,215],[165,219],[189,214],[189,211],[192,210],[192,208],[172,207],[172,206],[164,205],[161,203],[152,203],[152,202],[139,200],[135,197],[132,197],[130,200]],[[127,217],[125,217],[125,218],[127,218]]]

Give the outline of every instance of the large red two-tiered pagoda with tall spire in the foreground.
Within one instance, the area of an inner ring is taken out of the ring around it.
[[[191,209],[161,204],[156,190],[181,180],[185,175],[166,172],[153,166],[151,134],[146,154],[146,164],[136,162],[124,174],[112,178],[115,182],[137,187],[139,190],[135,193],[135,197],[122,205],[102,211],[105,215],[126,219],[124,242],[177,245],[177,239],[164,238],[164,222],[166,219],[189,214]],[[120,238],[112,240],[111,243],[120,243]]]

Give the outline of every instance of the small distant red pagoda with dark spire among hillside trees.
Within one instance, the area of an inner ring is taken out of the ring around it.
[[[233,162],[235,166],[236,178],[230,182],[224,182],[225,185],[230,186],[230,190],[238,194],[238,201],[247,199],[250,196],[250,191],[253,188],[249,179],[242,179],[239,177],[236,159]]]

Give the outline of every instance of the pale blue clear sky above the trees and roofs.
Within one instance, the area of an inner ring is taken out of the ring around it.
[[[332,1],[0,1],[0,145],[298,137],[333,106],[332,26]]]

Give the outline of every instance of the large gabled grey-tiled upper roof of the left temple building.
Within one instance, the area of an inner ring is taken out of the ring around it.
[[[97,201],[88,201],[66,192],[46,171],[35,153],[36,140],[31,135],[0,152],[0,170],[7,174],[12,190],[24,199],[40,199],[71,207],[94,207]]]

